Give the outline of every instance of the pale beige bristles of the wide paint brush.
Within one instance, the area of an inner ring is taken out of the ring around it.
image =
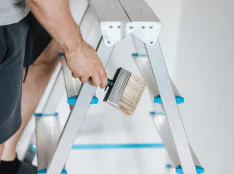
[[[131,75],[120,99],[119,105],[115,107],[131,116],[136,110],[137,104],[141,99],[145,87],[146,82],[144,79]]]

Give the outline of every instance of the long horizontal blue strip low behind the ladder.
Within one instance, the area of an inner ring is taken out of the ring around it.
[[[88,149],[144,149],[144,148],[165,148],[162,143],[152,144],[74,144],[73,150],[88,150]],[[32,151],[36,151],[36,145],[30,146]]]

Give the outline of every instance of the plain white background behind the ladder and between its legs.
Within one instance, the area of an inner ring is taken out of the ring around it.
[[[160,42],[170,76],[185,98],[180,111],[188,139],[206,174],[232,174],[234,1],[147,2],[163,23]],[[130,41],[127,38],[116,46],[108,75],[119,66],[140,75],[130,56],[134,52]],[[97,94],[103,96],[100,90]],[[58,107],[62,124],[68,114],[65,100],[64,93]],[[148,114],[151,108],[147,91],[132,118],[103,103],[91,106],[76,143],[160,143]],[[19,154],[23,148],[20,143]],[[165,174],[166,163],[163,149],[75,150],[67,170],[70,174]]]

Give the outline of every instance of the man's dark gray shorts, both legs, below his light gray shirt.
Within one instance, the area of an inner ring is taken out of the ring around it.
[[[29,67],[50,41],[31,13],[18,23],[0,26],[0,144],[21,126],[23,67]]]

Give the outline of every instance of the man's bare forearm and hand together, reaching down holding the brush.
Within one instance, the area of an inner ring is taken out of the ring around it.
[[[73,20],[68,0],[26,0],[34,16],[63,49],[73,77],[82,83],[107,85],[105,69],[96,51],[87,44]]]

